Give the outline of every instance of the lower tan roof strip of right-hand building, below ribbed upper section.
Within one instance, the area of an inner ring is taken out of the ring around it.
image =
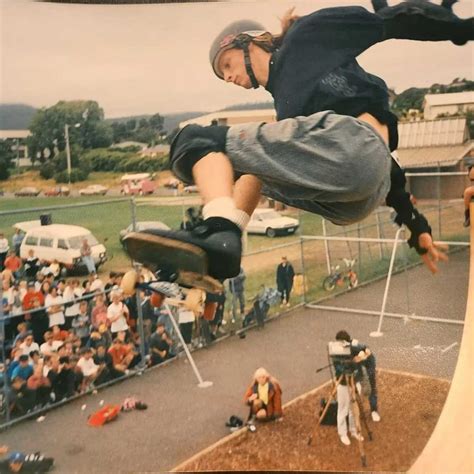
[[[472,151],[474,140],[454,146],[399,148],[397,155],[403,168],[435,168],[455,166]]]

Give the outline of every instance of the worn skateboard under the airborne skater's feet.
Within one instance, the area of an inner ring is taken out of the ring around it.
[[[123,242],[130,258],[159,279],[209,293],[224,290],[219,280],[208,275],[206,252],[196,245],[144,232],[131,232]]]

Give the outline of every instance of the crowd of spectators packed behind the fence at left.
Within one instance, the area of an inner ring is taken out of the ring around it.
[[[57,262],[43,264],[33,252],[27,259],[8,252],[0,267],[0,394],[12,417],[160,364],[181,350],[168,313],[154,307],[146,292],[140,298],[141,344],[137,299],[123,295],[122,277],[111,272],[103,281],[92,272],[62,278]],[[145,281],[151,277],[146,270],[141,275]],[[216,325],[207,324],[207,333],[197,330],[199,318],[192,311],[173,309],[172,316],[186,343],[199,345],[202,334],[215,338]]]

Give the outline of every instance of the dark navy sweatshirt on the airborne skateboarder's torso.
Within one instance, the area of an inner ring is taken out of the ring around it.
[[[362,7],[326,8],[298,19],[270,60],[266,89],[278,120],[322,110],[352,117],[368,112],[389,127],[395,150],[397,118],[387,85],[355,59],[384,39],[383,19]]]

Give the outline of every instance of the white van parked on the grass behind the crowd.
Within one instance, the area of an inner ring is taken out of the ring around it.
[[[24,223],[22,223],[24,224]],[[13,227],[17,227],[15,224]],[[25,226],[23,226],[25,227]],[[77,225],[50,224],[26,229],[21,243],[20,257],[28,258],[28,252],[34,251],[35,257],[46,262],[57,260],[68,271],[86,271],[82,263],[81,246],[87,239],[96,268],[107,260],[106,248],[99,244],[90,230]]]

